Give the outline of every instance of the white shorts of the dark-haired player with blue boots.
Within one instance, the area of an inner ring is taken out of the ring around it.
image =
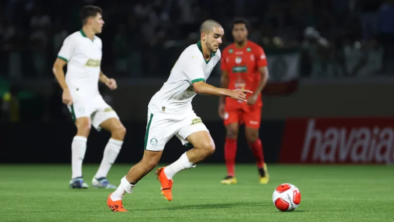
[[[104,101],[101,95],[97,95],[93,99],[73,98],[73,104],[67,107],[74,121],[80,117],[90,117],[92,126],[97,131],[101,130],[100,124],[107,119],[119,119],[116,112]]]

